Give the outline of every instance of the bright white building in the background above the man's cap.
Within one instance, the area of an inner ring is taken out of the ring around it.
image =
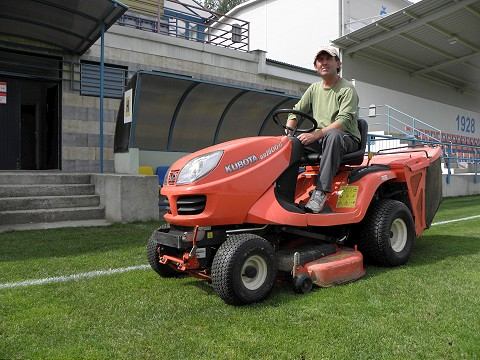
[[[267,58],[313,69],[322,45],[341,36],[340,7],[346,17],[363,19],[390,14],[406,0],[261,0],[237,6],[228,15],[250,22],[250,50],[264,50]]]

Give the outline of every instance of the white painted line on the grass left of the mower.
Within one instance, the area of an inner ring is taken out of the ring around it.
[[[82,279],[91,279],[99,276],[120,274],[120,273],[134,271],[134,270],[145,270],[148,268],[150,268],[150,265],[137,265],[137,266],[129,266],[125,268],[118,268],[118,269],[89,271],[86,273],[79,273],[79,274],[73,274],[73,275],[67,275],[67,276],[57,276],[57,277],[49,277],[44,279],[25,280],[25,281],[13,282],[13,283],[0,284],[0,290],[13,289],[13,288],[25,287],[25,286],[33,286],[33,285],[45,285],[45,284],[51,284],[51,283],[78,281]]]

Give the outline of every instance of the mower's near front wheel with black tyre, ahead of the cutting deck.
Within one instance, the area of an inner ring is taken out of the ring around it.
[[[263,300],[272,290],[276,276],[272,245],[253,234],[231,236],[217,250],[211,268],[215,292],[231,305]]]

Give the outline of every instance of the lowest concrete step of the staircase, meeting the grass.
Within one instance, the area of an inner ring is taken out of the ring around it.
[[[97,206],[0,211],[1,225],[93,219],[105,219],[105,209]]]

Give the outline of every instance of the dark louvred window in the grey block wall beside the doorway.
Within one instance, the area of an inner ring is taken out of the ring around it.
[[[104,96],[121,99],[125,90],[127,68],[114,65],[104,67]],[[100,64],[81,62],[80,95],[100,96]]]

